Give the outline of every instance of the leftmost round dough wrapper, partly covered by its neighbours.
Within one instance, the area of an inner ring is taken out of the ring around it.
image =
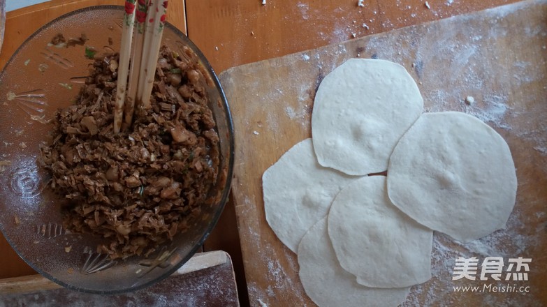
[[[262,176],[266,220],[296,253],[309,227],[326,216],[335,195],[355,177],[317,163],[312,139],[294,145]]]

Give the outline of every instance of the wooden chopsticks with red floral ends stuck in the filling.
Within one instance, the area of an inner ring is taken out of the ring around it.
[[[119,133],[122,126],[131,126],[136,104],[145,109],[150,107],[167,3],[168,0],[125,1],[114,105],[114,133]]]

